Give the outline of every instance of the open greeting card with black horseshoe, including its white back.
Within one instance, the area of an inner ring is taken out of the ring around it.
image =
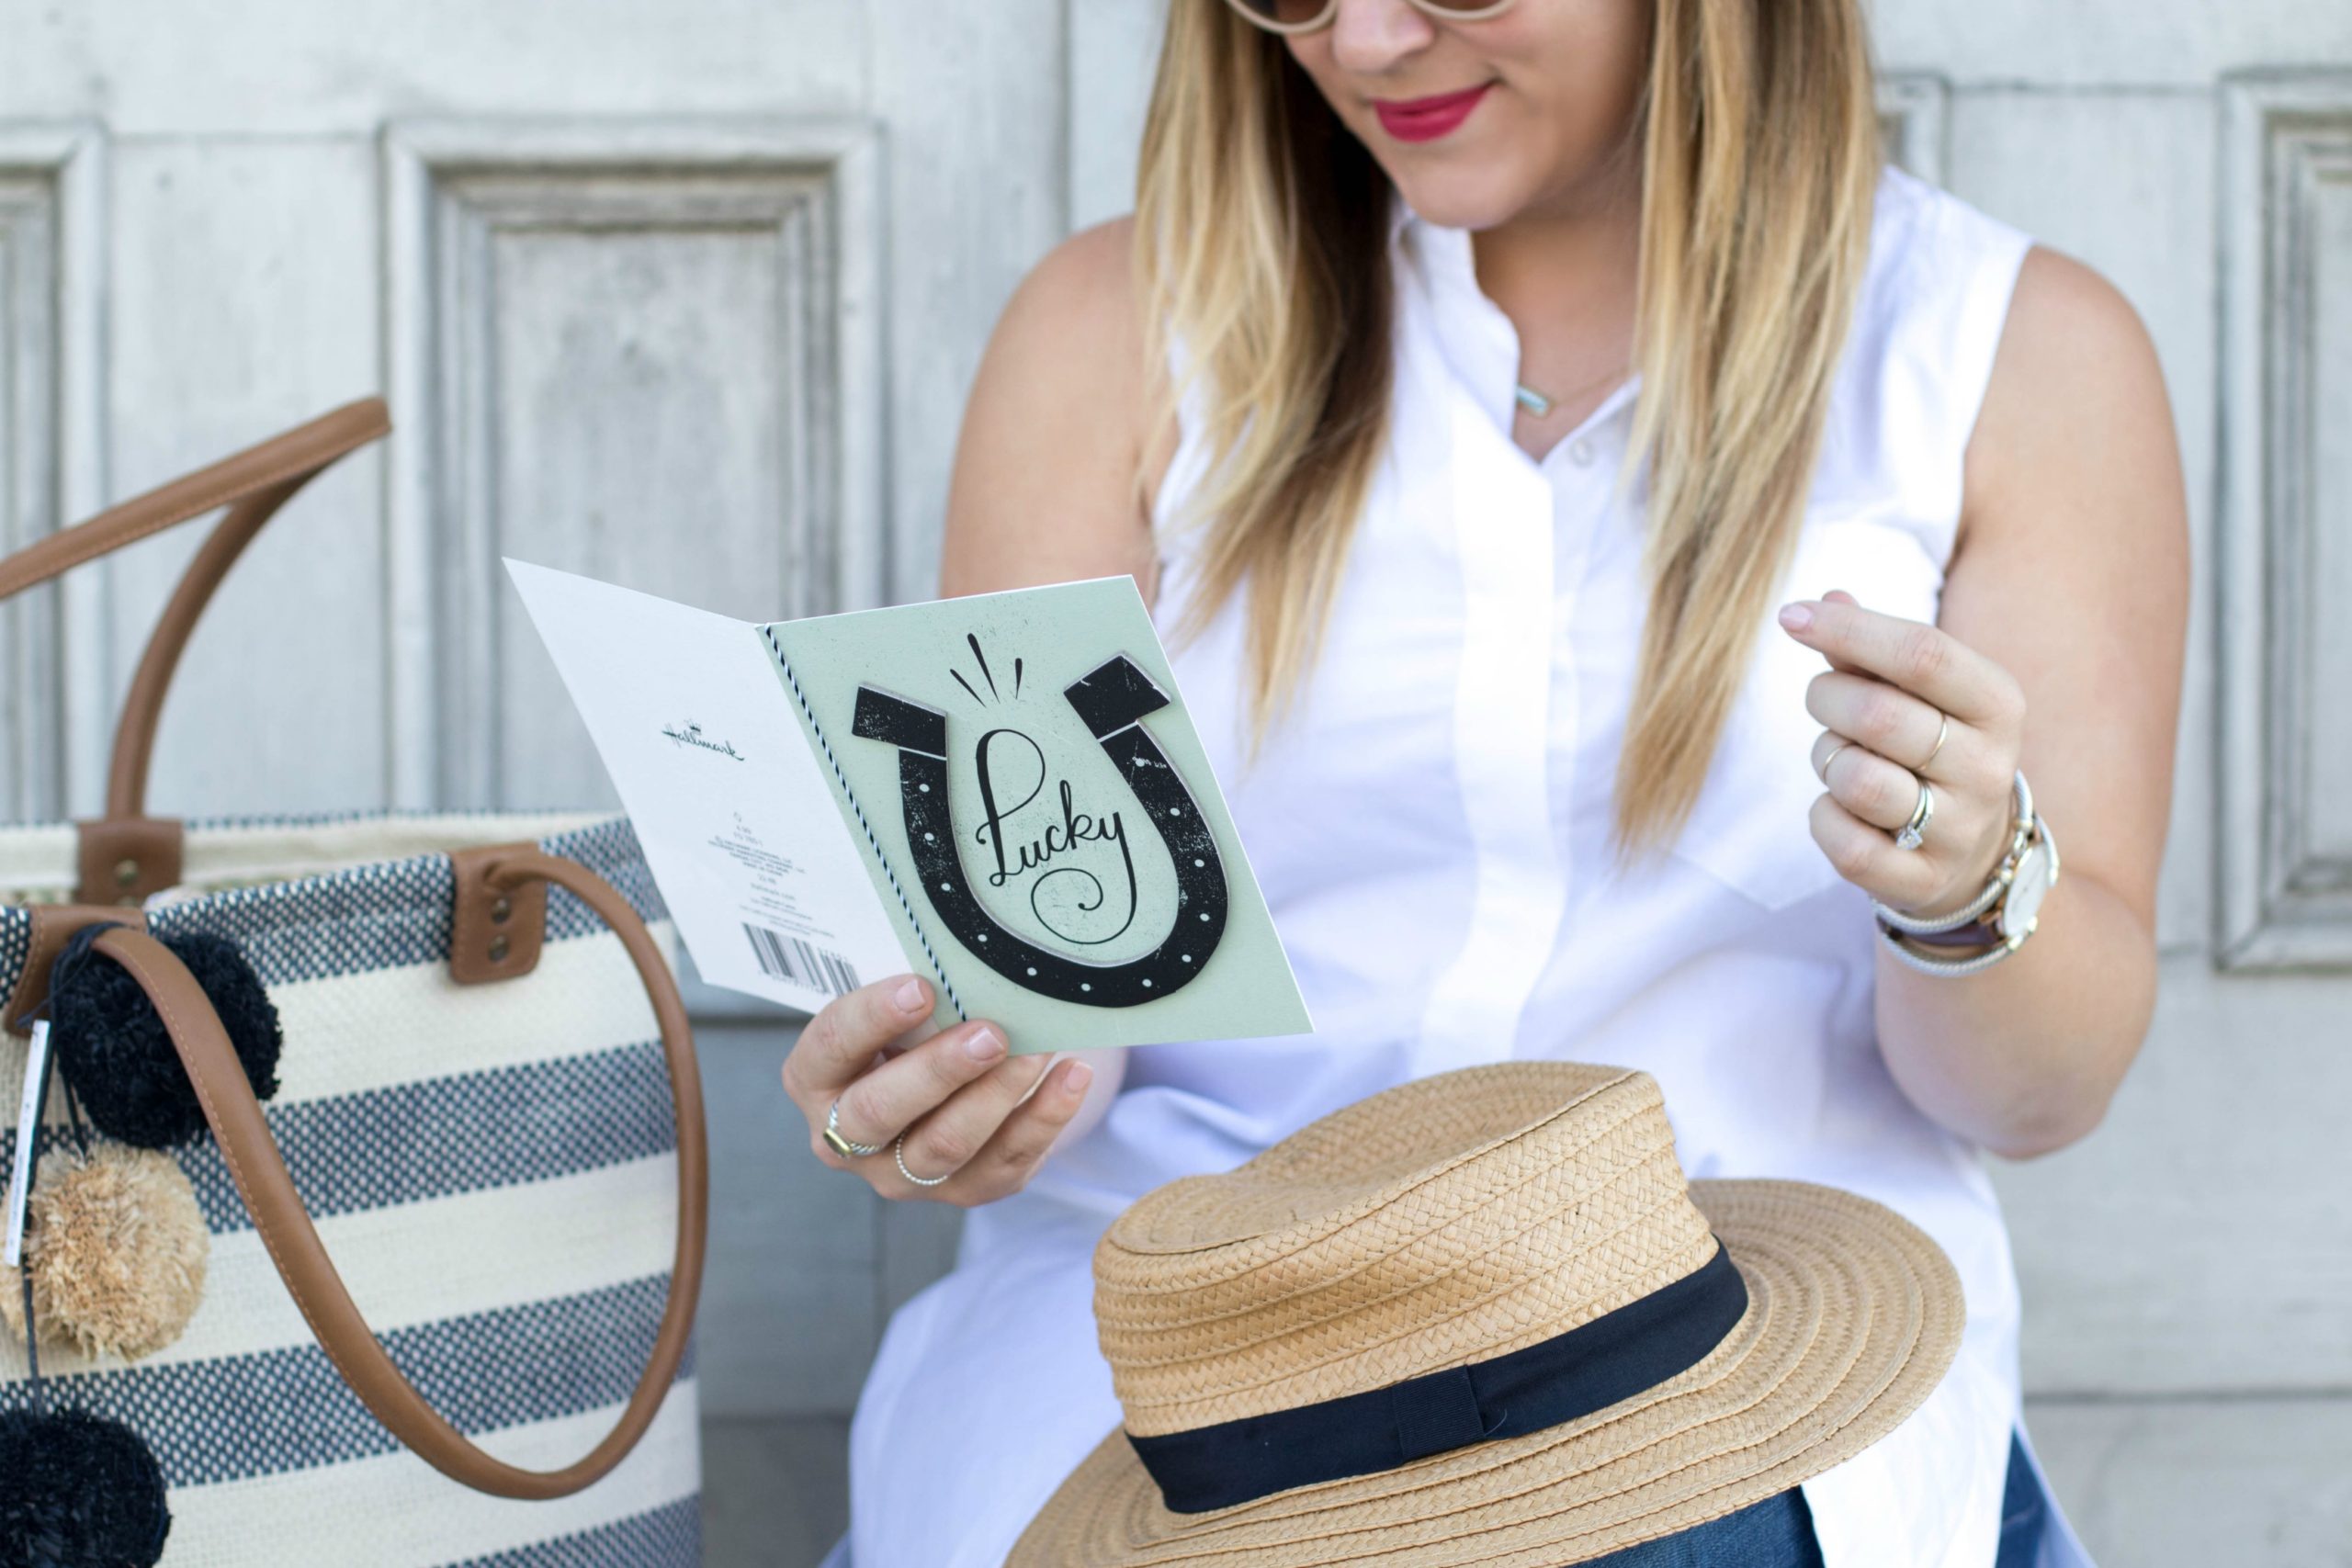
[[[1016,1053],[1312,1030],[1134,578],[755,625],[508,559],[696,969]]]

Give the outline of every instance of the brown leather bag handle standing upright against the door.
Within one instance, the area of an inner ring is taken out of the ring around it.
[[[228,508],[195,559],[188,562],[179,588],[172,590],[172,599],[148,637],[146,654],[139,658],[129,693],[122,698],[115,757],[106,776],[108,820],[146,813],[148,757],[155,750],[155,724],[162,717],[165,691],[172,686],[172,670],[179,668],[198,616],[205,614],[205,604],[212,602],[238,555],[303,484],[343,454],[381,440],[390,428],[393,421],[381,397],[348,402],[259,447],[247,447],[209,468],[113,505],[87,522],[47,534],[0,559],[0,599],[7,599],[151,534]]]

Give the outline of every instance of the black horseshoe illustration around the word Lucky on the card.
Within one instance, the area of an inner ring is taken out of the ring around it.
[[[922,872],[922,893],[967,952],[1023,990],[1080,1006],[1136,1006],[1192,983],[1225,936],[1225,863],[1216,835],[1192,804],[1160,743],[1143,731],[1143,715],[1169,705],[1167,693],[1124,654],[1112,656],[1061,691],[1087,733],[1117,764],[1120,778],[1160,830],[1176,863],[1176,914],[1157,947],[1127,964],[1084,964],[1007,931],[981,907],[964,882],[948,811],[948,715],[873,686],[858,686],[849,729],[866,741],[898,748],[898,795],[906,842]]]

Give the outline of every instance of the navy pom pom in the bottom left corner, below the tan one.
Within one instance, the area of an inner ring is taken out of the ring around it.
[[[162,1467],[122,1422],[0,1410],[0,1568],[153,1568]]]

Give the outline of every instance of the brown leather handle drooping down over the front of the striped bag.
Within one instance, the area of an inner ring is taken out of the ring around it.
[[[212,1124],[212,1135],[221,1143],[228,1175],[238,1182],[254,1229],[261,1232],[270,1262],[278,1265],[278,1276],[285,1279],[334,1371],[343,1375],[360,1403],[433,1469],[475,1490],[524,1500],[567,1497],[590,1486],[644,1436],[677,1378],[687,1333],[694,1328],[710,1208],[703,1084],[694,1063],[694,1032],[687,1025],[687,1004],[677,997],[677,980],[670,976],[661,947],[654,945],[654,933],[644,929],[644,922],[609,882],[574,860],[517,849],[501,856],[489,870],[489,882],[501,889],[539,879],[576,893],[628,947],[628,957],[644,980],[644,992],[654,1001],[654,1018],[661,1020],[661,1048],[668,1058],[670,1098],[677,1110],[677,1253],[670,1260],[670,1295],[661,1309],[654,1354],[614,1429],[581,1460],[562,1469],[520,1469],[496,1460],[475,1448],[463,1432],[426,1403],[416,1385],[393,1366],[367,1319],[360,1316],[360,1307],[350,1300],[350,1291],[343,1288],[343,1276],[327,1258],[301,1194],[294,1192],[294,1178],[278,1152],[278,1140],[270,1138],[261,1105],[245,1079],[245,1067],[238,1065],[238,1053],[195,976],[169,947],[132,926],[113,926],[94,943],[99,952],[122,964],[153,999],[172,1034],[172,1046],[188,1070],[188,1081],[195,1084],[205,1121]]]

